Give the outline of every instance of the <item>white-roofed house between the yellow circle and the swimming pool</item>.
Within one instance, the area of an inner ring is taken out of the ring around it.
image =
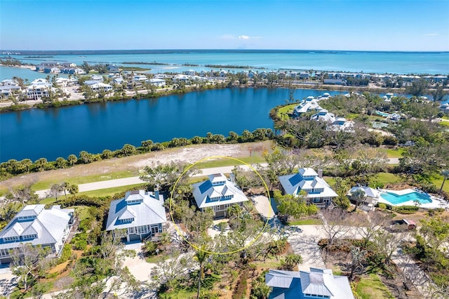
[[[300,168],[297,173],[279,176],[279,182],[285,194],[297,195],[304,191],[309,204],[324,208],[337,197],[337,193],[323,180],[321,170],[319,173],[312,168]]]

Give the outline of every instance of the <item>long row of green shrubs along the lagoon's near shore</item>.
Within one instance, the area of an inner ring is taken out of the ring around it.
[[[58,157],[55,161],[48,161],[46,158],[40,158],[36,161],[31,159],[22,159],[20,161],[10,159],[0,164],[0,180],[6,180],[14,175],[23,173],[35,173],[48,171],[51,169],[69,168],[76,164],[89,164],[94,161],[111,159],[114,157],[127,157],[135,154],[144,154],[147,152],[159,152],[167,148],[183,147],[185,145],[199,144],[225,144],[225,143],[243,143],[257,142],[274,138],[274,132],[271,128],[256,128],[253,132],[243,131],[241,135],[231,131],[229,135],[207,133],[205,137],[194,136],[192,138],[173,138],[166,142],[153,142],[145,140],[141,142],[140,147],[126,144],[119,150],[103,150],[98,154],[91,154],[86,151],[79,152],[79,155],[70,154],[67,159]]]

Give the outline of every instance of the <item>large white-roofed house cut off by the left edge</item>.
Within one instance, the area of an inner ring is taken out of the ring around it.
[[[10,251],[22,244],[48,246],[59,256],[74,224],[74,209],[44,204],[22,208],[0,232],[0,264],[11,262]]]

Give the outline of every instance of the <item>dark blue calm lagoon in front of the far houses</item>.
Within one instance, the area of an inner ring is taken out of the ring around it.
[[[297,90],[295,98],[324,91]],[[331,95],[337,91],[329,91]],[[0,161],[41,157],[54,160],[117,150],[142,140],[163,142],[211,132],[227,135],[272,128],[269,110],[286,102],[288,89],[227,88],[158,99],[102,102],[0,114]]]

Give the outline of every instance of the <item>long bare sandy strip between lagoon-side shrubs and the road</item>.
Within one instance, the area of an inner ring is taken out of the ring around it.
[[[55,180],[55,182],[76,176],[99,175],[118,171],[129,171],[130,176],[138,175],[139,169],[150,164],[167,164],[171,161],[194,163],[199,159],[214,156],[249,157],[250,147],[270,148],[270,141],[257,143],[242,143],[235,145],[189,145],[187,147],[149,152],[130,157],[107,159],[91,164],[76,165],[72,168],[29,173],[0,182],[1,189],[10,189],[27,182]]]

